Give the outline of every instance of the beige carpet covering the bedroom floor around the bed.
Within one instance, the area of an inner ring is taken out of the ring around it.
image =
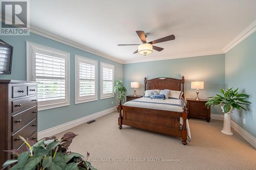
[[[256,150],[235,131],[233,136],[221,134],[220,120],[190,119],[189,125],[192,141],[186,146],[172,136],[128,126],[119,130],[117,113],[68,131],[79,134],[71,151],[90,152],[90,161],[99,170],[256,169]]]

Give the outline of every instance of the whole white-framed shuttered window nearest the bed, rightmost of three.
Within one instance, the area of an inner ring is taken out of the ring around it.
[[[114,65],[100,62],[100,99],[113,98],[114,92]]]

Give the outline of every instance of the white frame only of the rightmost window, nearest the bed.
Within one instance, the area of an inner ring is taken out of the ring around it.
[[[114,98],[115,94],[113,91],[112,91],[112,93],[103,94],[103,67],[113,69],[113,78],[112,78],[113,86],[112,86],[112,88],[114,87],[114,83],[115,83],[115,65],[100,62],[100,99]]]

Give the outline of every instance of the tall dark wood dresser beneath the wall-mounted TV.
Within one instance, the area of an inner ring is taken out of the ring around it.
[[[37,140],[37,84],[0,80],[0,164],[13,155],[4,150],[26,150],[19,138]]]

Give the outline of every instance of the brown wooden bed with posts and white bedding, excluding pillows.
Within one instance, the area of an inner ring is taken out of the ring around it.
[[[183,91],[184,99],[184,76],[182,79],[144,78],[144,90],[170,89]],[[139,129],[154,131],[181,138],[184,145],[190,140],[190,131],[187,120],[187,109],[181,100],[151,100],[139,98],[125,104],[119,103],[118,125],[127,125]],[[189,134],[189,135],[188,135]]]

